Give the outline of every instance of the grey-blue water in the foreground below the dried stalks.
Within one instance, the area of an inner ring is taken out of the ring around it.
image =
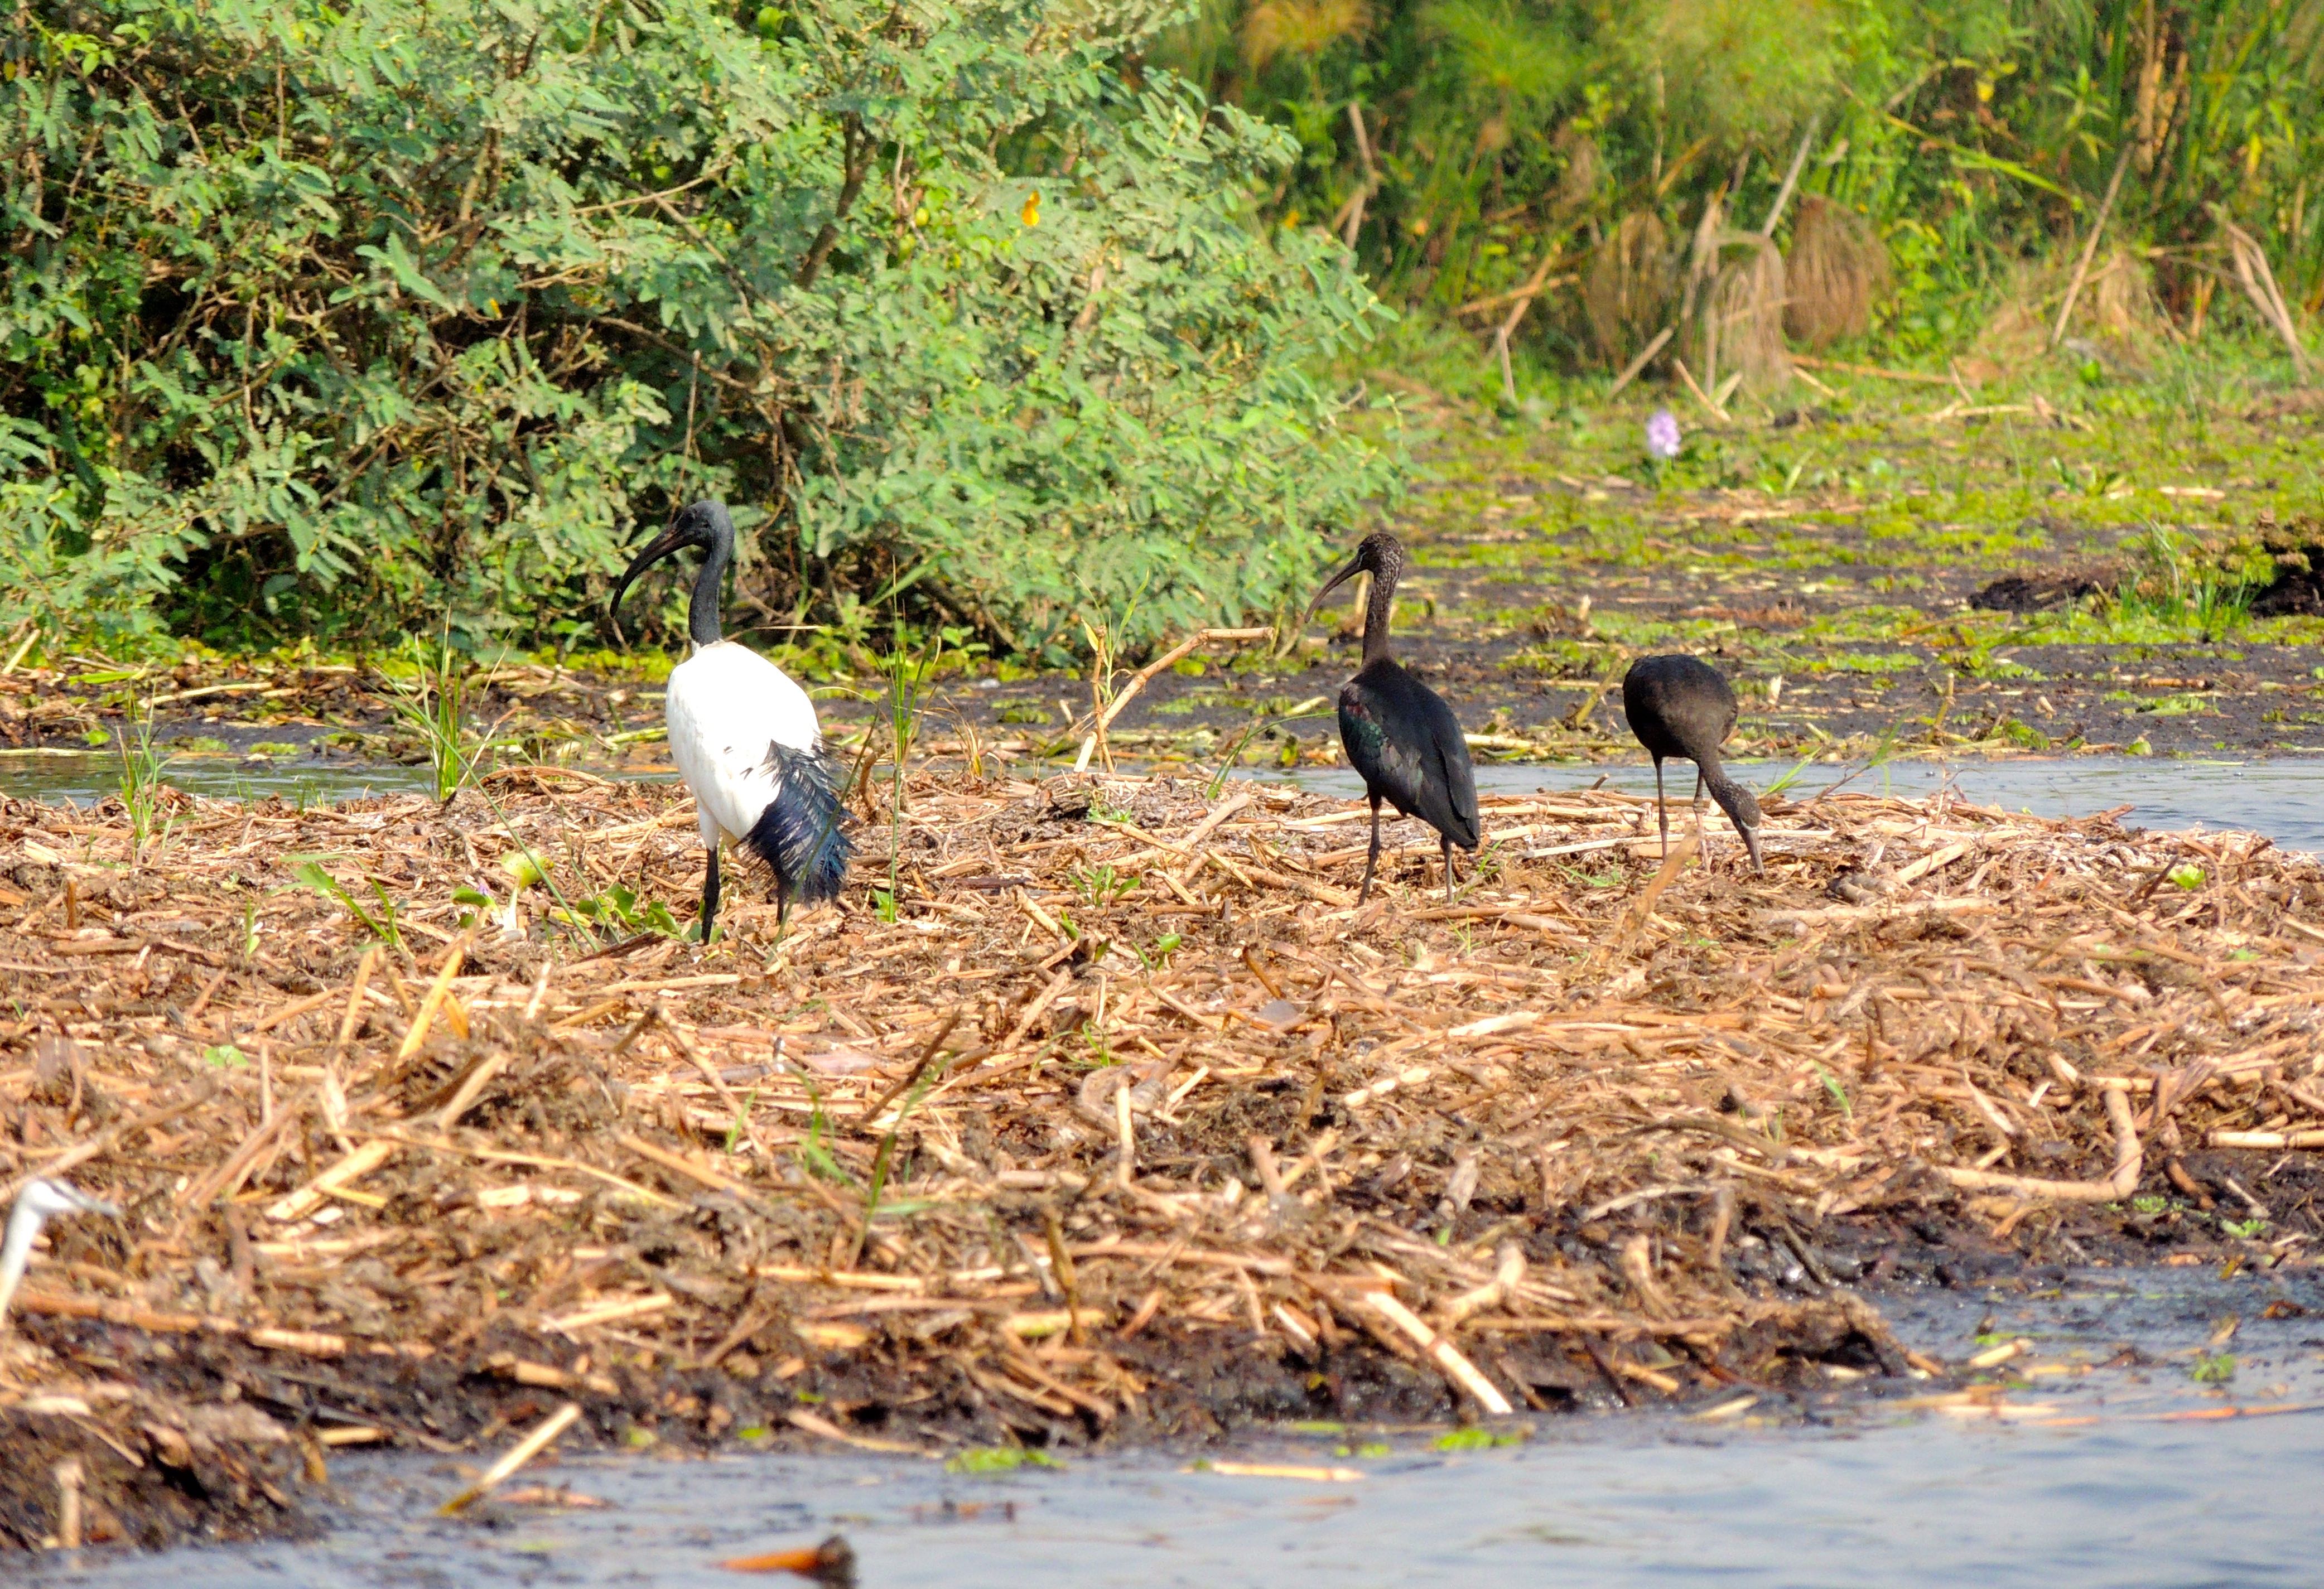
[[[1964,1357],[1980,1329],[2061,1364],[2008,1401],[2057,1424],[1957,1419],[1855,1392],[1769,1394],[1727,1424],[1548,1417],[1511,1450],[1439,1452],[1387,1436],[1255,1436],[1246,1461],[1339,1464],[1343,1484],[1185,1471],[1190,1452],[1067,1457],[1062,1471],[962,1477],[934,1461],[581,1457],[562,1482],[604,1510],[430,1515],[460,1477],[435,1459],[339,1459],[349,1510],[316,1545],[91,1556],[44,1584],[734,1584],[718,1561],[846,1533],[860,1582],[890,1584],[2312,1584],[2324,1508],[2324,1310],[2312,1271],[2073,1271],[2047,1296],[1889,1296],[1899,1333]],[[2243,1320],[2226,1387],[2189,1378]],[[2106,1368],[2122,1343],[2143,1366]],[[2082,1371],[2087,1368],[2087,1371]],[[2157,1422],[2229,1405],[2317,1412]],[[1778,1419],[1755,1424],[1759,1410]],[[2073,1422],[2064,1422],[2073,1419]],[[1208,1452],[1227,1457],[1229,1452]],[[953,1503],[955,1512],[946,1512]],[[971,1508],[974,1515],[962,1515]],[[776,1582],[804,1582],[781,1577]]]

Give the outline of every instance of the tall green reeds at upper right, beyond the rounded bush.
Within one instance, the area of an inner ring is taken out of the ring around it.
[[[1153,58],[1299,137],[1274,214],[1341,230],[1387,295],[1576,272],[1520,328],[1552,362],[1620,358],[1583,295],[1624,218],[1680,253],[1717,195],[1757,225],[1801,144],[1799,190],[1885,239],[1899,355],[1959,346],[2124,158],[2113,235],[2180,323],[2231,274],[2222,211],[2294,309],[2324,300],[2317,0],[1202,0]]]

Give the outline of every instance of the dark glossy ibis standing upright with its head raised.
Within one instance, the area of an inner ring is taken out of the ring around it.
[[[1387,611],[1404,574],[1404,544],[1392,534],[1369,534],[1355,562],[1332,576],[1306,618],[1322,599],[1357,574],[1371,574],[1371,599],[1364,604],[1364,667],[1339,692],[1339,743],[1348,762],[1364,774],[1364,797],[1371,799],[1371,855],[1364,857],[1364,892],[1371,899],[1371,873],[1380,864],[1380,801],[1399,815],[1415,815],[1436,829],[1446,857],[1446,899],[1452,899],[1452,846],[1478,846],[1476,774],[1469,769],[1469,741],[1459,718],[1443,697],[1413,678],[1387,655]],[[1301,618],[1301,627],[1306,627]]]

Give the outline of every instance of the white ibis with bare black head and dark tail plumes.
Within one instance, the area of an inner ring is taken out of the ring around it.
[[[734,843],[774,869],[774,915],[790,901],[832,899],[853,846],[839,806],[839,764],[823,748],[816,706],[790,674],[718,632],[718,588],[734,562],[734,520],[720,502],[695,502],[614,585],[609,613],[630,583],[676,551],[702,551],[686,634],[695,648],[669,669],[669,760],[695,794],[702,848],[704,943],[718,920],[718,846]]]

